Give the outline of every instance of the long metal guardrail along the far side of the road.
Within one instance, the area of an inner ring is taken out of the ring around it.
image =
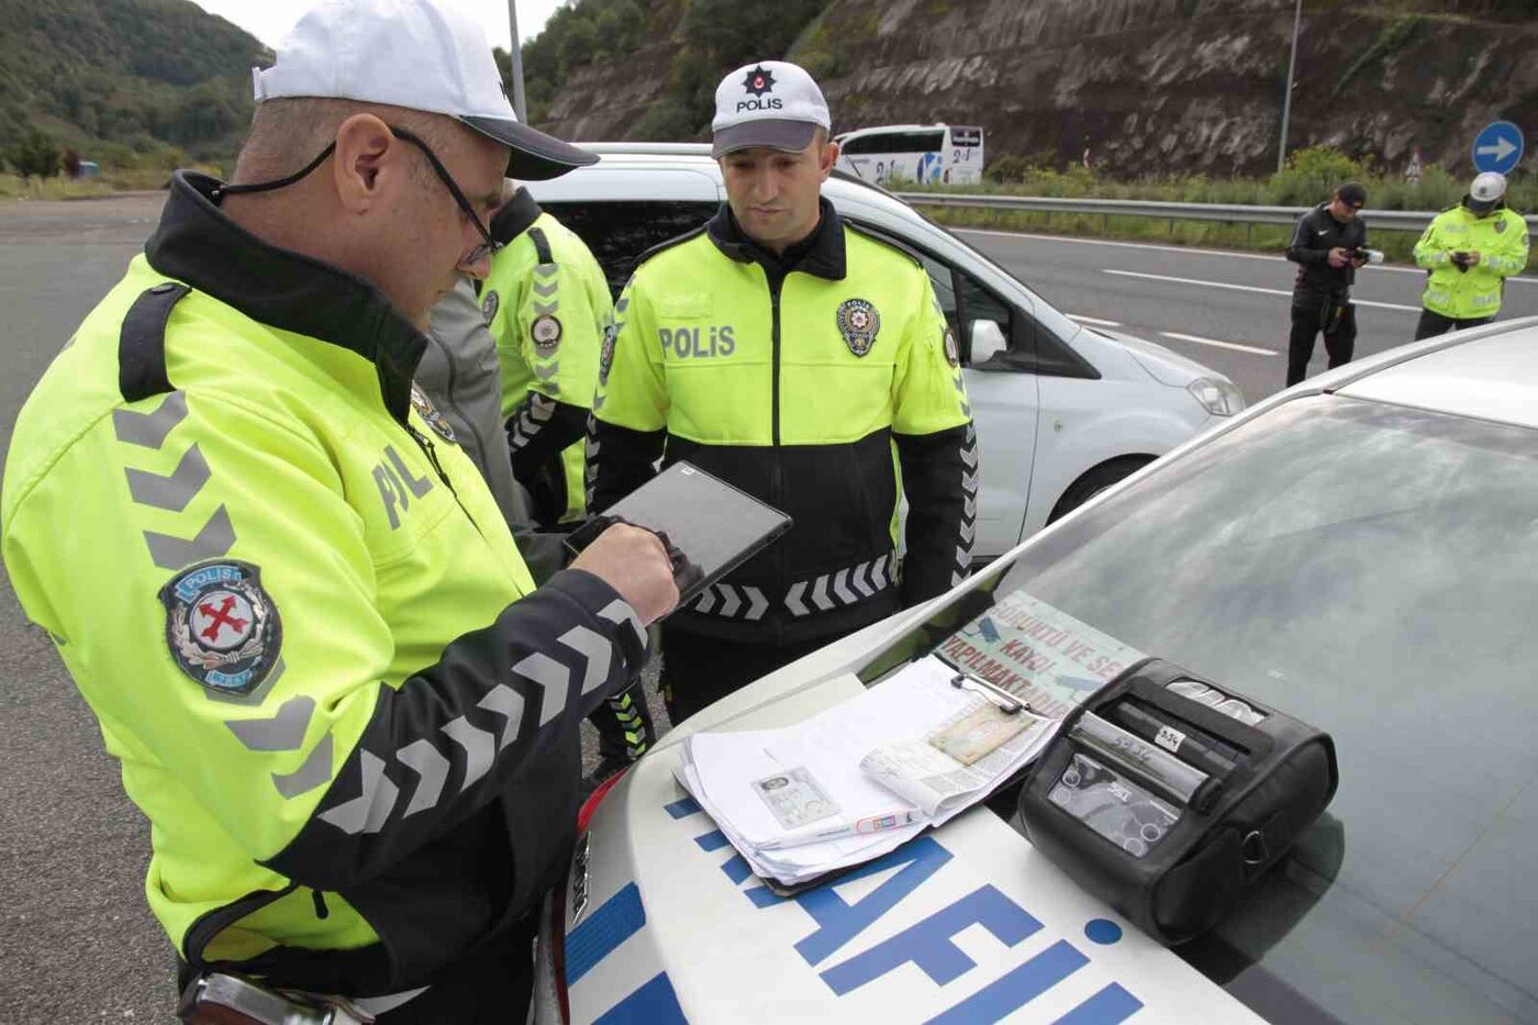
[[[1238,203],[1167,203],[1161,200],[1097,200],[1064,195],[984,195],[972,192],[894,192],[904,203],[921,206],[978,206],[1041,214],[1101,214],[1106,217],[1155,217],[1158,220],[1223,220],[1240,225],[1295,225],[1312,206],[1240,206]],[[1424,231],[1440,211],[1369,209],[1363,219],[1380,231]],[[1527,229],[1538,231],[1538,215]]]

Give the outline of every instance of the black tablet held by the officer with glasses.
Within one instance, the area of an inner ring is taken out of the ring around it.
[[[772,505],[686,462],[674,463],[603,512],[667,534],[700,569],[703,576],[680,593],[680,608],[792,525]]]

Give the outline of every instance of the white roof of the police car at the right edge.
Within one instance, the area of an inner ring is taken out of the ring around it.
[[[1538,428],[1538,317],[1443,336],[1337,394]]]

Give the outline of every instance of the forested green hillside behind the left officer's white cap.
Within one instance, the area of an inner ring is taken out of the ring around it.
[[[0,154],[40,128],[108,168],[225,162],[268,62],[189,0],[0,0]]]

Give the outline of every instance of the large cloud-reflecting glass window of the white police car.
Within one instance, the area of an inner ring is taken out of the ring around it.
[[[1149,654],[1333,736],[1329,811],[1192,965],[1273,1020],[1538,1022],[1538,432],[1300,399],[990,576],[949,626],[1010,605],[1058,697]]]

